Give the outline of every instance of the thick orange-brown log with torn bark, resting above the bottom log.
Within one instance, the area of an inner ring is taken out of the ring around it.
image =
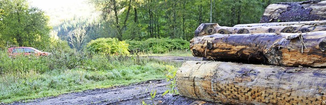
[[[279,66],[326,66],[326,31],[213,34],[190,42],[195,57]]]

